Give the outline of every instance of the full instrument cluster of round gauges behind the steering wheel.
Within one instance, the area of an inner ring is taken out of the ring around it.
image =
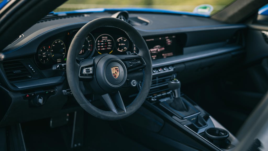
[[[77,31],[66,31],[44,40],[35,55],[37,65],[40,68],[50,68],[53,64],[66,63],[70,43]],[[83,60],[103,53],[126,55],[128,51],[138,53],[124,31],[114,27],[101,27],[86,36],[76,58]]]

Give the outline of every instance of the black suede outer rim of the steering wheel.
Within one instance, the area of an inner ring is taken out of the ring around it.
[[[121,115],[117,115],[116,113],[111,111],[104,111],[93,106],[84,97],[83,93],[79,88],[79,65],[76,63],[77,50],[80,50],[82,48],[84,39],[88,33],[90,33],[96,28],[103,26],[113,26],[125,31],[131,41],[139,48],[138,55],[142,56],[146,63],[146,67],[144,67],[143,69],[144,78],[142,88],[137,97],[134,99],[134,101],[126,107],[126,113]],[[151,87],[152,60],[146,42],[133,26],[117,18],[102,17],[85,24],[76,33],[70,44],[66,64],[67,79],[72,90],[73,96],[84,110],[86,110],[91,115],[97,118],[101,118],[103,120],[119,120],[133,114],[143,104]]]

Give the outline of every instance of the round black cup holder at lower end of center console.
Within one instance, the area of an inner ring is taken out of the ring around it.
[[[205,137],[214,145],[224,148],[227,145],[229,132],[222,128],[207,128],[205,130]]]

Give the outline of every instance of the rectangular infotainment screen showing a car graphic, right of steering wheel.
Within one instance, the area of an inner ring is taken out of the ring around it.
[[[152,60],[177,55],[178,46],[175,35],[145,38]]]

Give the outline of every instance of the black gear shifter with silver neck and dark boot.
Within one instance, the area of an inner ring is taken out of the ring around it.
[[[170,103],[170,107],[177,111],[188,111],[183,100],[181,99],[181,82],[174,78],[169,81],[168,87],[173,93],[173,102]]]

